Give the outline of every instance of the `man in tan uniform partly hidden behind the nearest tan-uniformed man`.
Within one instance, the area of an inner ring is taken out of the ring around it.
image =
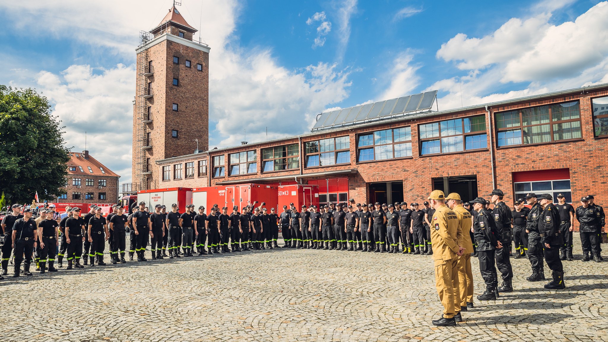
[[[469,307],[473,307],[473,273],[471,271],[473,242],[471,234],[469,234],[473,219],[471,213],[462,206],[460,195],[455,192],[447,195],[446,203],[456,213],[458,225],[462,230],[462,240],[458,239],[458,246],[465,248],[465,251],[458,257],[458,282],[460,283],[460,310],[467,311]]]

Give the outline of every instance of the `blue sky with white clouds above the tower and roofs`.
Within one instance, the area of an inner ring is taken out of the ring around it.
[[[35,87],[75,150],[130,181],[134,49],[172,1],[3,2],[0,83]],[[491,4],[491,5],[488,5]],[[324,110],[437,89],[440,110],[608,82],[608,4],[212,1],[210,147],[308,131]],[[103,118],[95,122],[95,118]],[[184,153],[190,153],[185,151]]]

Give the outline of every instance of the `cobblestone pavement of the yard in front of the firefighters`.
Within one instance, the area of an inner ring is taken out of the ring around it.
[[[608,262],[575,246],[565,290],[525,281],[528,260],[513,259],[516,291],[475,300],[457,327],[430,323],[429,256],[280,248],[9,275],[0,341],[606,341]]]

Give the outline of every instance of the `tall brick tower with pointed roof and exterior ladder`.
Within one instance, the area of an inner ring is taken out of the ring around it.
[[[161,187],[154,163],[209,147],[209,46],[173,6],[140,32],[133,102],[133,190]],[[151,34],[150,34],[151,33]]]

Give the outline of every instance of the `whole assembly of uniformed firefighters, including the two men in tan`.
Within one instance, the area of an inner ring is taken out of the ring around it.
[[[278,248],[279,229],[283,248],[362,251],[373,253],[434,254],[437,290],[445,307],[439,326],[453,326],[460,321],[461,311],[473,307],[471,256],[478,257],[480,273],[486,284],[480,301],[499,298],[500,292],[513,291],[513,269],[510,257],[527,256],[532,274],[528,281],[545,280],[544,264],[550,268],[549,289],[565,288],[562,260],[573,260],[573,220],[579,222],[583,262],[601,262],[600,232],[605,225],[604,210],[594,197],[581,198],[574,209],[562,194],[553,203],[551,194],[528,194],[514,203],[513,209],[503,201],[502,190],[489,194],[490,200],[477,197],[469,202],[460,195],[444,196],[435,190],[424,201],[395,204],[348,204],[302,206],[298,211],[283,206],[275,208],[247,206],[219,209],[217,204],[206,214],[205,208],[186,206],[184,213],[173,204],[170,211],[156,205],[149,212],[144,202],[126,215],[120,205],[108,217],[102,208],[93,206],[84,216],[80,208],[66,208],[63,218],[49,209],[32,219],[33,209],[13,204],[12,213],[2,220],[2,276],[7,275],[14,256],[13,277],[30,276],[30,264],[36,270],[55,272],[67,261],[67,270],[106,265],[105,243],[109,243],[113,264],[126,263],[137,257],[145,262],[150,244],[151,259],[170,259],[214,253]],[[257,204],[257,203],[256,203]],[[492,210],[489,206],[492,205]],[[126,250],[126,235],[130,246]],[[512,246],[515,253],[511,253]],[[206,248],[207,246],[207,248]],[[168,254],[167,254],[168,253]],[[83,259],[83,265],[80,261]],[[21,263],[24,263],[21,270]],[[498,286],[498,275],[502,284]],[[0,279],[2,279],[0,276]]]

